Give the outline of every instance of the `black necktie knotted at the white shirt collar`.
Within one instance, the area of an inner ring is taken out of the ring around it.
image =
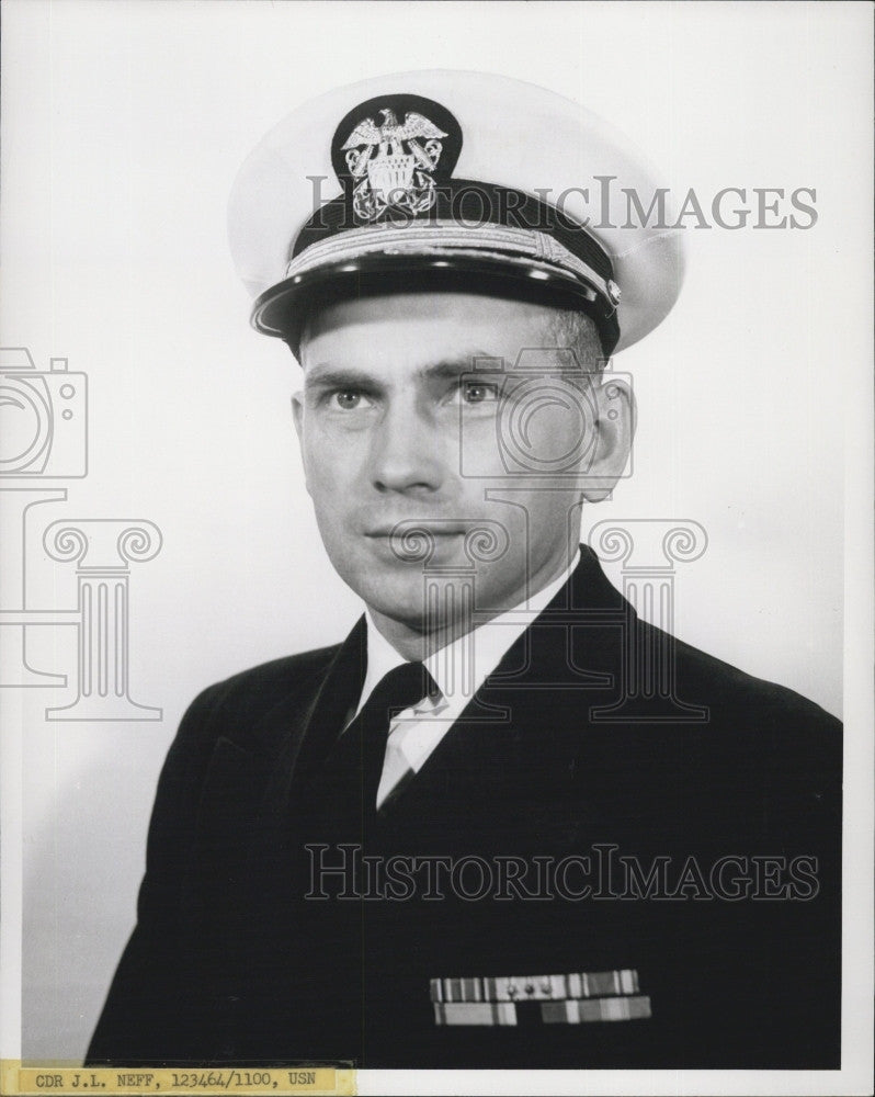
[[[436,692],[434,679],[421,663],[402,663],[390,670],[334,744],[326,758],[322,779],[345,787],[351,794],[357,788],[362,810],[373,811],[390,722],[399,712]],[[353,794],[351,799],[359,798]]]

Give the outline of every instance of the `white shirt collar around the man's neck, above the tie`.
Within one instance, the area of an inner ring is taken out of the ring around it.
[[[451,701],[454,698],[464,698],[467,703],[496,669],[508,648],[525,632],[535,617],[553,601],[579,562],[580,548],[568,567],[546,587],[542,587],[541,590],[518,606],[498,614],[491,621],[478,625],[471,632],[459,636],[425,659],[425,668],[444,698]],[[367,672],[355,715],[362,711],[376,685],[390,670],[407,661],[378,631],[371,617],[371,611],[367,609],[365,610],[365,619],[367,621]],[[470,657],[471,651],[473,658]]]

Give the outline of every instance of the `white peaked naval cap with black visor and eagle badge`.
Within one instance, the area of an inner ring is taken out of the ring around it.
[[[660,186],[623,134],[555,92],[404,72],[280,122],[237,176],[228,229],[253,325],[293,347],[306,307],[344,280],[360,292],[365,279],[414,274],[573,299],[611,352],[657,327],[680,293],[682,230],[630,215],[629,192],[646,214]]]

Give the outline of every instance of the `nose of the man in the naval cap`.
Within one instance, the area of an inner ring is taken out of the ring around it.
[[[393,402],[374,431],[371,479],[378,491],[428,494],[443,480],[435,425],[412,400]]]

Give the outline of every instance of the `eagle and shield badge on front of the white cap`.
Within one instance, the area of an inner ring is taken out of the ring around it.
[[[427,214],[461,150],[462,129],[446,108],[420,95],[380,95],[341,121],[331,160],[355,219],[368,223]]]

